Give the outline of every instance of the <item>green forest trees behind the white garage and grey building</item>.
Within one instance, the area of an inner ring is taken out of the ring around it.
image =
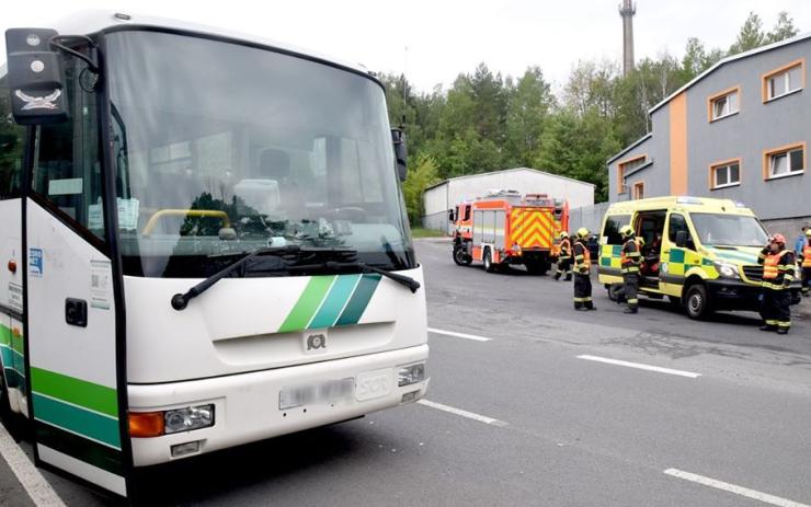
[[[627,76],[619,61],[580,60],[558,94],[537,66],[512,77],[481,62],[431,92],[404,76],[382,74],[391,125],[408,136],[409,217],[420,222],[422,194],[438,181],[518,166],[593,183],[595,201],[604,201],[606,161],[649,131],[653,105],[720,59],[797,33],[787,12],[770,30],[751,12],[729,48],[692,37],[681,56],[643,58]]]

